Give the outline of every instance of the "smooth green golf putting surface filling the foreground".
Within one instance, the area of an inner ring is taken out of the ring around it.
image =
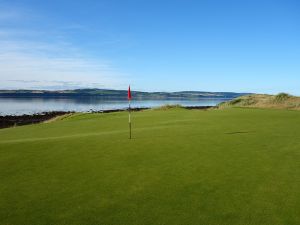
[[[78,114],[0,130],[0,224],[300,224],[300,112]]]

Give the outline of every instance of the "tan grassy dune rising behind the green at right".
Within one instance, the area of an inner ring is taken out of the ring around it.
[[[251,108],[277,108],[300,110],[300,97],[286,93],[278,95],[246,95],[237,97],[231,101],[219,104],[220,108],[251,107]]]

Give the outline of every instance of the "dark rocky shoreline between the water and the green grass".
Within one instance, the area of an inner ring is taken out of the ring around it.
[[[216,108],[216,106],[183,106],[182,108],[189,109],[189,110],[207,110],[211,108]],[[151,108],[147,108],[147,107],[131,108],[131,111],[138,112],[147,109],[151,109]],[[87,111],[82,113],[114,113],[114,112],[123,112],[127,110],[128,109],[111,109],[111,110],[101,110],[101,111]],[[58,116],[64,116],[73,113],[76,112],[75,111],[52,111],[52,112],[42,112],[42,113],[24,114],[24,115],[3,115],[0,116],[0,129],[42,123],[54,119]]]

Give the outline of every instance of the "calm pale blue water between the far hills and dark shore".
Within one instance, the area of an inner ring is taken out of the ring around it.
[[[227,99],[228,100],[228,99]],[[226,99],[197,100],[134,100],[132,107],[157,107],[166,104],[183,106],[215,106]],[[100,111],[126,109],[126,100],[105,100],[98,98],[59,99],[59,98],[0,98],[0,115],[34,114],[48,111]]]

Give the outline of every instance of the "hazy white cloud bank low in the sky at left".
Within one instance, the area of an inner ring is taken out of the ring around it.
[[[76,83],[77,86],[118,87],[121,85],[120,74],[111,68],[108,62],[89,59],[86,57],[69,56],[66,51],[58,52],[57,56],[49,54],[50,46],[10,43],[3,46],[0,43],[0,87],[1,88],[30,88],[35,83],[31,80],[42,81],[43,88],[53,88],[53,80],[62,84]],[[4,51],[3,51],[4,49]],[[57,49],[60,49],[59,47]],[[61,50],[60,50],[61,51]],[[45,54],[47,52],[48,54]],[[59,56],[63,55],[63,56]],[[12,80],[28,80],[29,82],[13,82]],[[56,82],[57,83],[57,82]],[[69,85],[65,85],[69,88]]]

